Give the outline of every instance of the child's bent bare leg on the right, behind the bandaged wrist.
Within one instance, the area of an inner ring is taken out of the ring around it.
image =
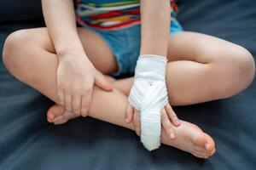
[[[166,83],[171,105],[191,105],[240,93],[253,81],[253,56],[245,48],[195,32],[170,37]],[[114,82],[128,95],[133,78]]]

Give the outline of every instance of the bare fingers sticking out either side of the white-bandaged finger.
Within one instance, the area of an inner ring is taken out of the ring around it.
[[[133,122],[137,135],[140,135],[140,113],[139,111],[135,110],[129,103],[126,108],[125,121]],[[176,127],[180,125],[176,113],[172,110],[172,106],[168,103],[161,111],[161,124],[162,127],[164,127],[164,129],[166,130],[166,134],[168,135],[168,137],[170,139],[174,139],[175,133],[172,129],[171,123]]]

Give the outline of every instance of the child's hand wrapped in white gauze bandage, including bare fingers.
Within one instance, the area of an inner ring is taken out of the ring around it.
[[[140,55],[128,97],[127,122],[133,117],[136,132],[138,135],[142,132],[141,141],[148,150],[155,150],[160,146],[161,125],[170,139],[175,138],[171,122],[175,126],[179,125],[177,116],[168,102],[166,65],[165,56]],[[140,116],[138,111],[133,111],[135,109],[140,110]]]

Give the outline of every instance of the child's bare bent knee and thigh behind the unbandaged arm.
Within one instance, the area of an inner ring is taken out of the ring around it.
[[[88,58],[98,71],[109,74],[117,70],[111,50],[96,33],[79,29],[79,36]],[[58,57],[46,28],[20,30],[10,34],[3,47],[3,63],[21,82],[36,88],[56,103],[59,102],[55,95],[56,81],[48,81],[56,77]]]

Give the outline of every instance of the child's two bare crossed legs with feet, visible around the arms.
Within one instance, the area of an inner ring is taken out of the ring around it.
[[[104,74],[117,69],[113,54],[100,37],[85,30],[79,30],[79,35],[96,69]],[[97,44],[97,47],[93,44]],[[206,47],[206,44],[210,45]],[[202,34],[186,32],[171,37],[168,59],[166,82],[171,105],[191,105],[230,97],[247,88],[254,76],[253,58],[246,49]],[[59,103],[55,77],[58,58],[46,29],[11,34],[4,45],[3,62],[21,82],[26,82]],[[132,81],[132,78],[128,78],[114,82],[113,92],[104,92],[95,87],[89,115],[134,130],[131,123],[125,122],[125,94],[129,94]],[[73,113],[63,116],[65,111],[56,106],[50,112],[61,117],[60,122],[63,122],[63,118],[74,116]],[[214,153],[212,138],[199,127],[182,122],[180,127],[173,128],[176,139],[168,139],[163,131],[161,141],[164,144],[197,157],[207,158]]]

